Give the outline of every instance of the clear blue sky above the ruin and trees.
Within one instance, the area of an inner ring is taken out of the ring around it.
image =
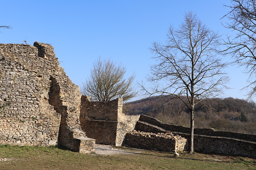
[[[101,56],[122,63],[127,77],[145,80],[155,61],[148,48],[153,41],[164,42],[170,25],[183,22],[185,12],[197,14],[212,30],[226,35],[220,20],[228,12],[229,0],[123,0],[123,1],[2,1],[0,43],[22,44],[26,40],[48,43],[66,74],[80,86],[90,75],[93,62]],[[222,97],[246,98],[247,75],[230,66],[231,88]],[[139,99],[139,98],[136,98]]]

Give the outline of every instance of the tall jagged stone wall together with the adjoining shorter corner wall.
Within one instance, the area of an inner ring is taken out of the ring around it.
[[[122,105],[82,96],[49,44],[0,44],[0,144],[58,144],[81,153],[95,143],[122,145],[139,118],[125,116]]]

